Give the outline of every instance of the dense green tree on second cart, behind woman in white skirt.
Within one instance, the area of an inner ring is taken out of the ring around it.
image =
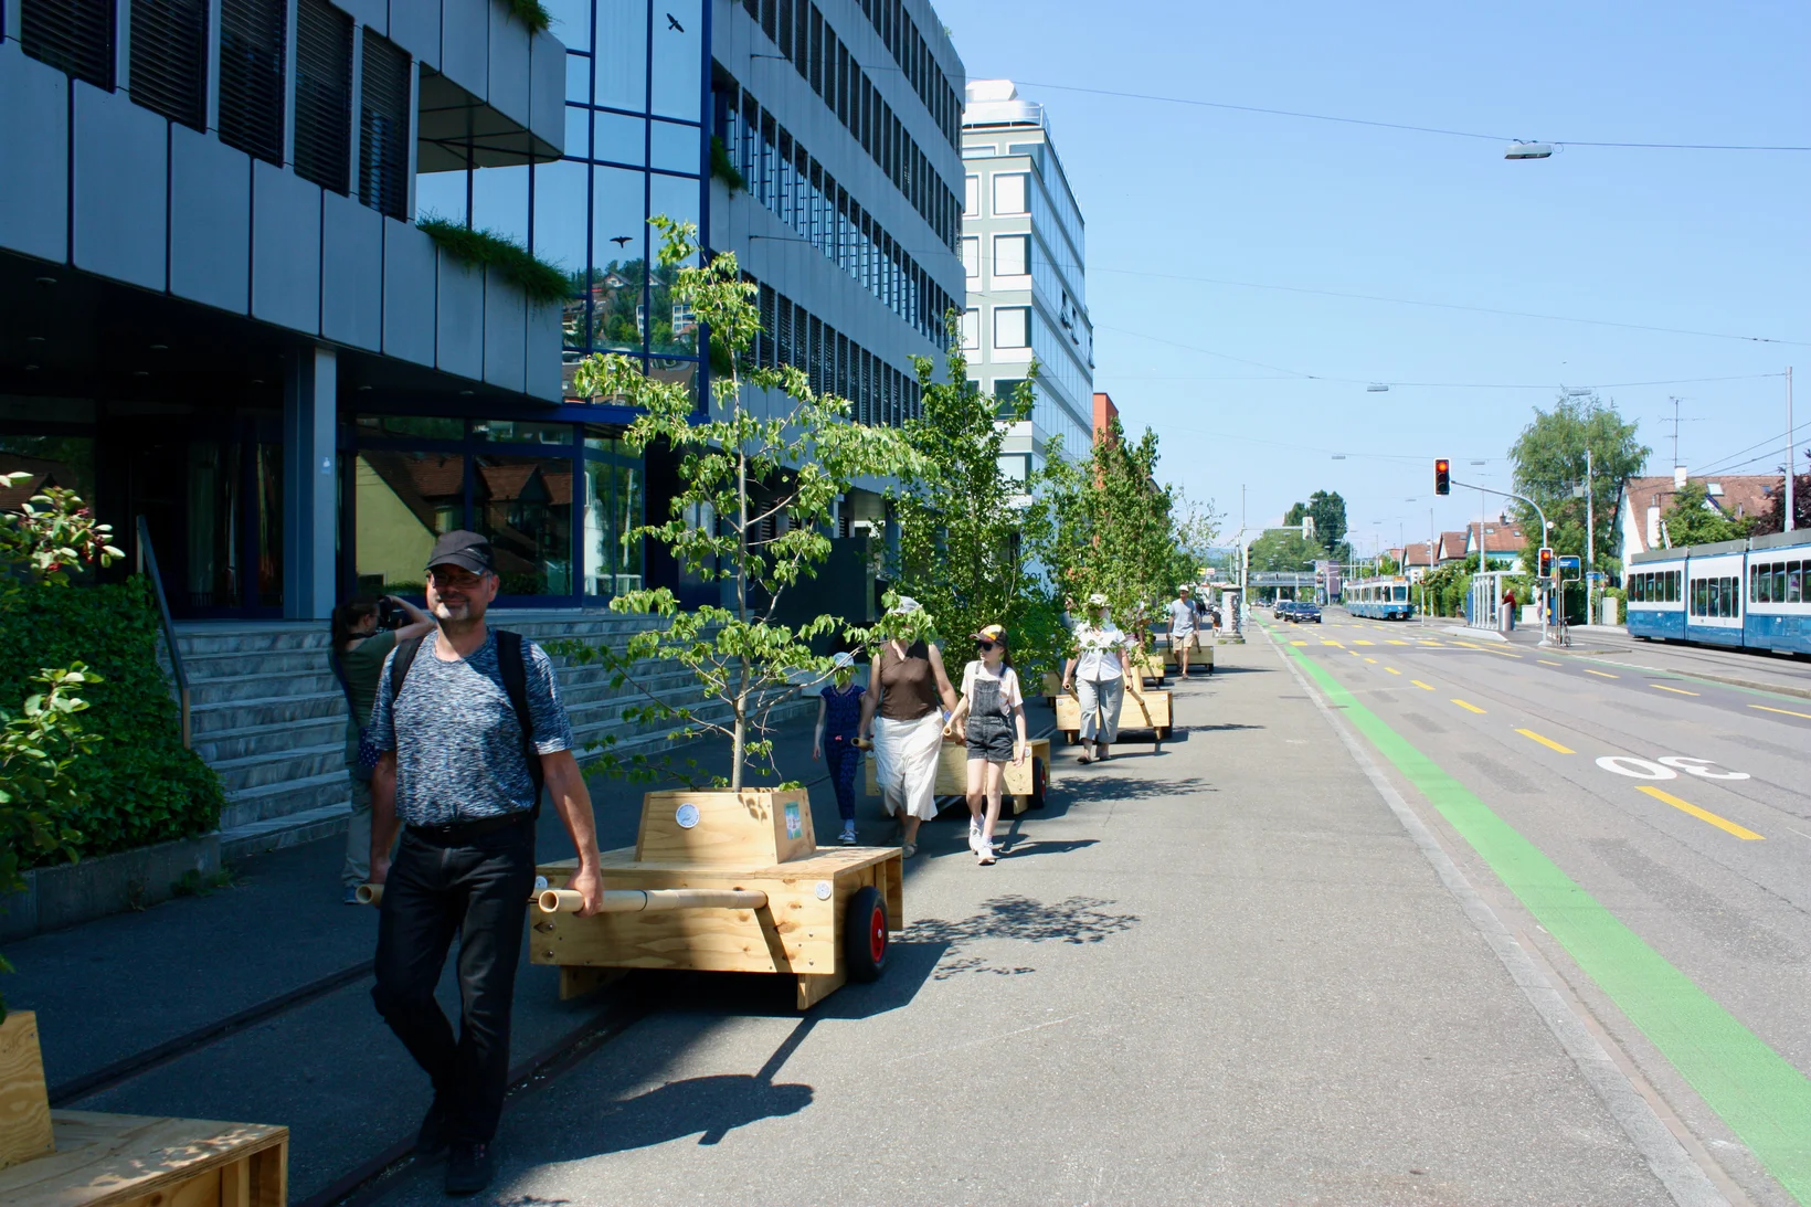
[[[933,381],[929,357],[916,357],[924,408],[907,420],[906,440],[918,471],[893,491],[898,553],[893,585],[936,618],[949,638],[1001,623],[1012,660],[1027,681],[1059,667],[1067,632],[1063,609],[1041,567],[1027,560],[1049,544],[1050,504],[1036,478],[1000,466],[1007,426],[1029,419],[1032,381],[1011,399],[969,384],[958,328],[951,328],[945,381]],[[1050,453],[1061,459],[1061,449]]]

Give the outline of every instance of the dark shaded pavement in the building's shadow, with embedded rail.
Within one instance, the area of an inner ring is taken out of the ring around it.
[[[828,843],[840,823],[822,765],[810,756],[811,721],[808,714],[784,727],[777,759],[808,783],[813,825]],[[1041,701],[1030,723],[1032,732],[1049,727]],[[701,774],[728,767],[724,743],[697,743],[688,754]],[[590,790],[601,846],[632,846],[645,788],[594,777]],[[878,801],[858,797],[858,817],[864,843],[886,839]],[[235,864],[232,888],[9,944],[18,973],[5,979],[7,1000],[38,1011],[53,1096],[161,1044],[313,990],[292,1009],[235,1026],[123,1082],[63,1093],[56,1106],[286,1124],[295,1203],[413,1135],[427,1086],[371,1006],[362,966],[375,946],[377,912],[340,903],[342,855],[342,837],[257,855]],[[540,855],[570,855],[554,810],[540,821]],[[523,951],[514,1058],[547,1049],[627,993],[610,988],[560,1002],[558,973],[529,966]],[[451,975],[440,997],[456,1017]]]

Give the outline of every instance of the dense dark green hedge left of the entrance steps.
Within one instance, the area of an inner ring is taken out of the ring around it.
[[[89,805],[71,823],[83,855],[206,834],[226,796],[183,748],[181,714],[158,665],[158,614],[143,576],[96,587],[25,585],[0,614],[0,707],[16,710],[43,667],[85,661],[105,681],[81,692],[101,743],[74,779]],[[54,863],[47,855],[40,863]]]

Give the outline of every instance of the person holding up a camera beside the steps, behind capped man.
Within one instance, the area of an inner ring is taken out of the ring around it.
[[[328,647],[328,665],[346,692],[346,774],[351,777],[351,817],[346,821],[346,861],[340,864],[346,904],[359,904],[359,884],[371,877],[371,770],[377,767],[377,747],[369,739],[369,721],[377,680],[397,642],[435,631],[435,618],[407,600],[393,594],[384,600],[402,625],[378,625],[382,602],[357,598],[333,609],[333,642]]]

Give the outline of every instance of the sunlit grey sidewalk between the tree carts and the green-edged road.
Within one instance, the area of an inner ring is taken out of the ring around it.
[[[641,982],[489,1202],[1668,1202],[1277,651],[1219,660],[998,866],[934,826],[878,984]]]

